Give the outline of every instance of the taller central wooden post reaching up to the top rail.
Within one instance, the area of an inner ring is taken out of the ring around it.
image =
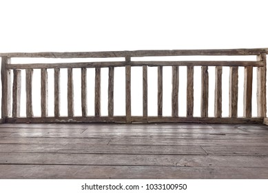
[[[131,66],[130,57],[125,57],[125,116],[126,123],[131,123]]]

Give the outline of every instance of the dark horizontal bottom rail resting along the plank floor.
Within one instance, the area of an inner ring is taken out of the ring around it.
[[[214,117],[171,117],[171,116],[132,116],[132,123],[232,123],[232,124],[260,124],[263,123],[263,117],[252,118],[214,118]],[[126,123],[125,116],[74,116],[74,117],[8,117],[3,123]]]

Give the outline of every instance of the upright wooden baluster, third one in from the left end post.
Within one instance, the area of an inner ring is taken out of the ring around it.
[[[41,69],[41,116],[48,116],[48,72]]]

